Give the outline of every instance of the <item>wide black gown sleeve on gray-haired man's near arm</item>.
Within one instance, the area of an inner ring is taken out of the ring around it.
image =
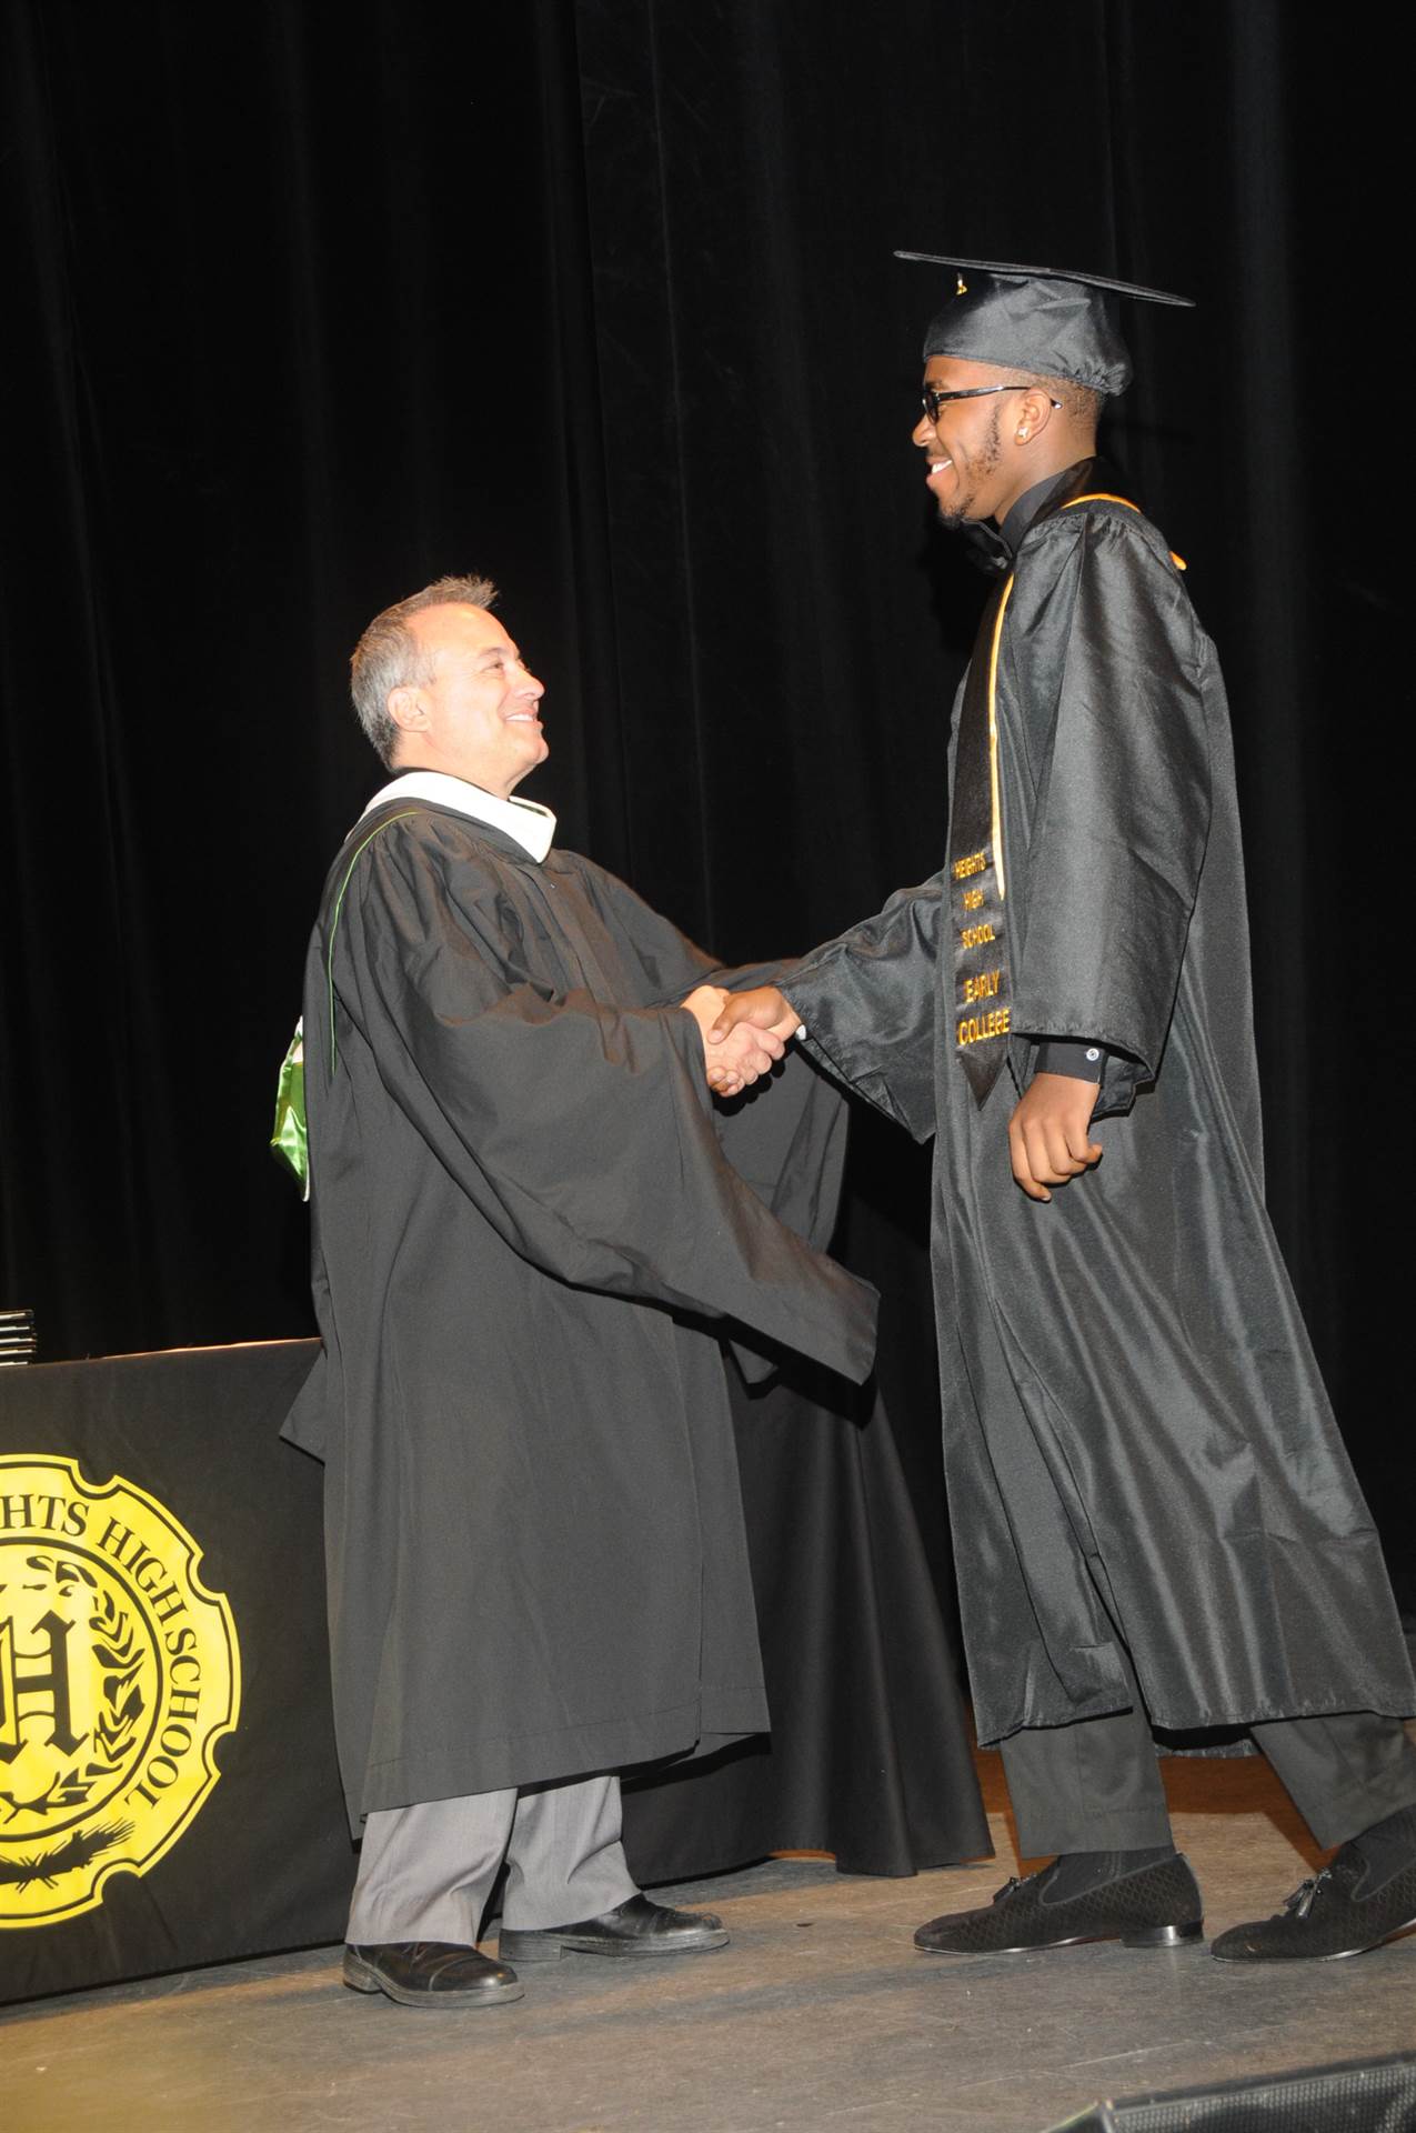
[[[557,990],[476,857],[401,823],[369,847],[335,932],[333,1009],[335,1039],[348,1015],[390,1098],[522,1258],[868,1374],[879,1299],[723,1158],[691,1015]],[[339,1073],[337,1052],[328,1064]]]

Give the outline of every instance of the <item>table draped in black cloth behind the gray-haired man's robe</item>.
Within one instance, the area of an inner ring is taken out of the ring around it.
[[[343,1937],[354,1849],[331,1721],[322,1470],[279,1440],[313,1354],[269,1342],[0,1372],[0,1459],[73,1459],[87,1485],[122,1476],[166,1506],[200,1549],[200,1583],[226,1595],[241,1655],[239,1721],[213,1751],[209,1796],[145,1873],[111,1873],[94,1909],[0,1930],[0,2001]],[[635,1773],[635,1877],[795,1849],[881,1875],[985,1854],[953,1649],[879,1399],[808,1372],[753,1391],[729,1380],[774,1732]],[[0,1589],[0,1617],[2,1602]],[[11,1685],[38,1679],[28,1666]]]

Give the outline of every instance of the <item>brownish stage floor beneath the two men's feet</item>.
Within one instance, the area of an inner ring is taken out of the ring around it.
[[[979,1766],[998,1860],[868,1881],[789,1858],[680,1886],[725,1913],[721,1954],[565,1958],[478,2016],[348,1992],[337,1950],[11,2007],[6,2133],[1041,2133],[1103,2095],[1416,2046],[1416,1935],[1282,1971],[1203,1947],[917,1956],[923,1918],[1015,1871],[998,1758]],[[1314,1856],[1267,1766],[1164,1768],[1209,1930],[1277,1909]]]

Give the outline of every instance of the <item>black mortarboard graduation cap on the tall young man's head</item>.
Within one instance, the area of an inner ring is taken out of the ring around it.
[[[1036,378],[1068,378],[1092,392],[1124,392],[1130,384],[1120,296],[1194,309],[1190,296],[1169,296],[1162,288],[1139,288],[1100,273],[1073,273],[1071,267],[1015,267],[945,252],[896,252],[896,258],[953,267],[953,294],[923,337],[926,363],[930,356],[958,356]]]

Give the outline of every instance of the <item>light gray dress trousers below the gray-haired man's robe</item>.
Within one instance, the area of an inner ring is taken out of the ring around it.
[[[503,1860],[505,1926],[572,1926],[638,1894],[621,1845],[618,1777],[367,1815],[345,1941],[471,1947]]]

